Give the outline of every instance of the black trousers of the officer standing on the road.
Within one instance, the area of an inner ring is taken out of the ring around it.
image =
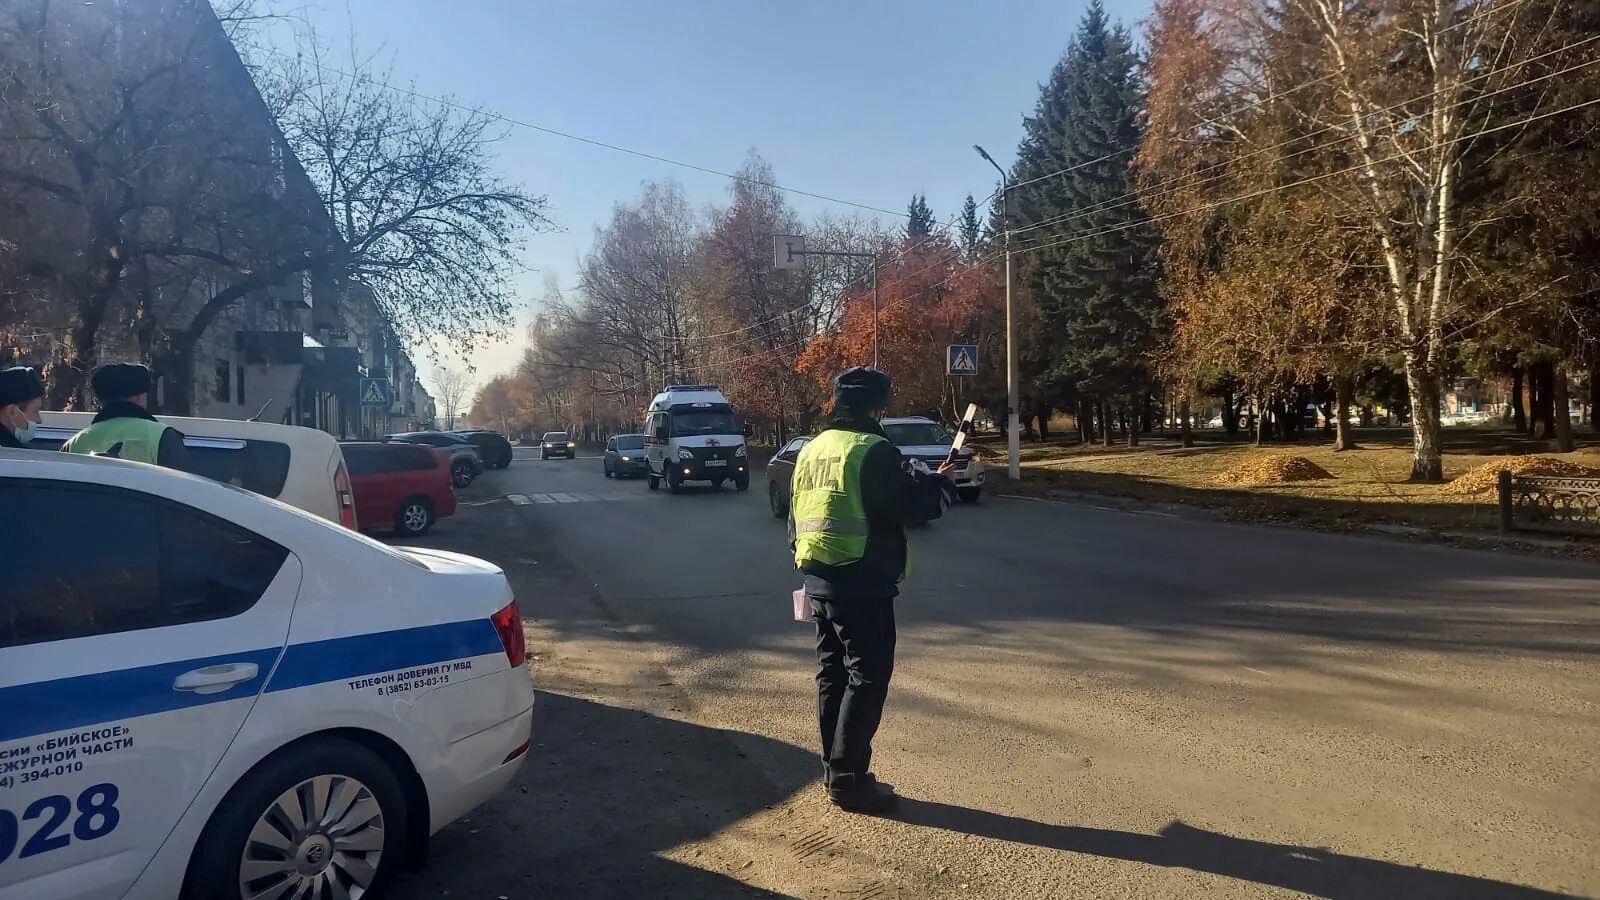
[[[864,775],[894,674],[894,599],[808,597],[816,620],[816,719],[822,769]]]

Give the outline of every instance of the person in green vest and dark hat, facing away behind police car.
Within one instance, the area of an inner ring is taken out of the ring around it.
[[[134,362],[112,362],[94,370],[90,386],[101,412],[61,448],[67,453],[99,453],[118,460],[187,468],[184,436],[155,421],[144,408],[150,397],[150,370]]]

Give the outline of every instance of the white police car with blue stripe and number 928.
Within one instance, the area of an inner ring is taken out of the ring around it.
[[[120,460],[0,498],[0,898],[373,898],[522,764],[499,569]]]

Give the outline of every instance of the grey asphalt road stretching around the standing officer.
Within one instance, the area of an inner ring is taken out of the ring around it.
[[[878,773],[818,788],[765,479],[518,460],[424,543],[504,565],[538,746],[421,897],[1600,895],[1600,569],[986,498],[912,538]]]

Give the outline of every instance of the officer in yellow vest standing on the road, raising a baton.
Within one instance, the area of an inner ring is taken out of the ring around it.
[[[907,569],[906,525],[942,512],[949,466],[914,472],[883,436],[890,376],[850,368],[834,380],[827,429],[795,460],[789,543],[816,621],[818,725],[829,799],[888,812],[896,794],[872,775],[872,737],[894,673],[894,597]]]

